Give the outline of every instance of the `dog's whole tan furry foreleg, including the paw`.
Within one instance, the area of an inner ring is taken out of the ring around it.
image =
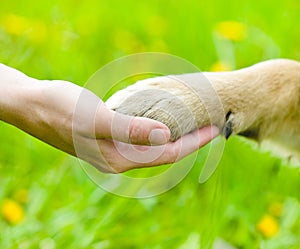
[[[172,140],[214,124],[226,136],[276,140],[300,152],[300,63],[292,60],[147,79],[117,92],[107,105],[165,123]]]

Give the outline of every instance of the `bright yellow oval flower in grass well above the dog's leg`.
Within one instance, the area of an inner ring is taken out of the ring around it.
[[[216,33],[223,39],[242,41],[246,37],[247,28],[243,23],[236,21],[220,22],[215,26]]]

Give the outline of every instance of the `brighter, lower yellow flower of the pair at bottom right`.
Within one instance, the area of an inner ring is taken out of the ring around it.
[[[266,238],[271,238],[279,232],[279,224],[273,216],[266,214],[258,222],[257,229]]]

